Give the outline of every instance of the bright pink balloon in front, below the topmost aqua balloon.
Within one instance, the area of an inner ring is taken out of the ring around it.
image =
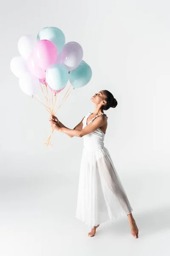
[[[33,49],[34,60],[43,70],[53,65],[57,59],[57,48],[48,40],[40,40]]]

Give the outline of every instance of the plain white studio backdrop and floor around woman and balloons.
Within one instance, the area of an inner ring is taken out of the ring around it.
[[[0,254],[2,256],[169,255],[170,4],[153,0],[4,1],[0,8]],[[124,184],[127,216],[87,236],[75,218],[83,138],[51,133],[48,112],[11,73],[22,35],[57,26],[77,41],[93,76],[58,112],[74,128],[93,112],[91,96],[110,90],[108,148]]]

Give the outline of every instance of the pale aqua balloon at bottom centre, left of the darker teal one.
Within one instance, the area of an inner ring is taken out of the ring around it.
[[[60,90],[68,82],[68,71],[62,65],[53,65],[46,71],[46,81],[48,85],[54,90]]]

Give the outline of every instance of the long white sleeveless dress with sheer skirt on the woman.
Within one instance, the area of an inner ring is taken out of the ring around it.
[[[97,117],[87,124],[90,115],[91,112],[84,117],[83,128]],[[89,228],[133,211],[108,149],[104,146],[104,138],[105,134],[100,128],[83,136],[76,218]]]

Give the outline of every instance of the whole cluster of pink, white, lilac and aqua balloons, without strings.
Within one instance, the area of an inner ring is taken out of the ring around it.
[[[61,92],[68,80],[75,88],[91,80],[91,67],[82,60],[83,49],[77,42],[65,44],[65,35],[57,27],[45,27],[37,38],[23,35],[18,41],[21,56],[11,60],[11,71],[19,78],[21,90],[36,95],[40,82],[52,92]]]

